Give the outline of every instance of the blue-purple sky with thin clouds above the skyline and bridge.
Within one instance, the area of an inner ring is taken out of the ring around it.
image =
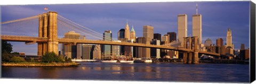
[[[154,33],[177,32],[177,15],[188,15],[188,36],[192,35],[192,15],[202,14],[202,42],[210,38],[215,44],[217,38],[226,43],[228,27],[231,28],[235,49],[241,44],[249,47],[249,2],[161,2],[161,3],[106,3],[106,4],[51,4],[51,5],[2,5],[1,21],[26,18],[48,11],[103,33],[113,32],[117,38],[119,29],[125,27],[126,19],[130,29],[134,26],[137,37],[142,36],[142,27],[151,25]],[[31,26],[32,27],[32,26]],[[37,28],[35,26],[35,28]],[[36,29],[35,29],[36,30]],[[31,30],[33,31],[33,30]],[[13,51],[34,54],[37,45],[11,42]]]

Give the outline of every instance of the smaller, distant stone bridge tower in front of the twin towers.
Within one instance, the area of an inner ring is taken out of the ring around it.
[[[184,48],[193,50],[193,52],[183,53],[184,63],[198,64],[198,44],[198,37],[184,37]]]

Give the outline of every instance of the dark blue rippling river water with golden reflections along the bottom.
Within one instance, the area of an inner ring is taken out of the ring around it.
[[[80,62],[76,68],[2,68],[3,78],[249,82],[249,64]]]

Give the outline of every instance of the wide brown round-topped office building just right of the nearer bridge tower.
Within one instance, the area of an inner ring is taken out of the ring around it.
[[[69,39],[79,39],[80,34],[76,33],[75,31],[68,31],[65,33],[64,38],[69,38]],[[77,52],[77,45],[70,45],[70,44],[62,44],[63,49],[63,56],[67,58],[77,58],[77,53],[81,53],[81,51]],[[79,48],[79,46],[78,46]],[[79,55],[79,54],[78,54]]]

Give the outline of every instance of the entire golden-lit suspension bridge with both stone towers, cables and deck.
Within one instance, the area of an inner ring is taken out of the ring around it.
[[[134,47],[147,47],[169,49],[183,53],[185,63],[198,63],[198,54],[211,56],[220,56],[218,53],[205,52],[199,49],[198,37],[184,37],[181,41],[183,47],[167,45],[150,45],[141,43],[127,43],[124,41],[106,41],[102,40],[103,36],[97,31],[81,26],[69,19],[58,15],[57,12],[49,11],[28,18],[17,19],[12,21],[1,22],[1,40],[21,41],[26,44],[37,43],[37,55],[42,56],[46,52],[59,52],[59,44],[101,44],[101,45],[122,45]],[[90,38],[70,39],[60,38],[64,32],[74,30]],[[108,37],[110,38],[110,37]]]

